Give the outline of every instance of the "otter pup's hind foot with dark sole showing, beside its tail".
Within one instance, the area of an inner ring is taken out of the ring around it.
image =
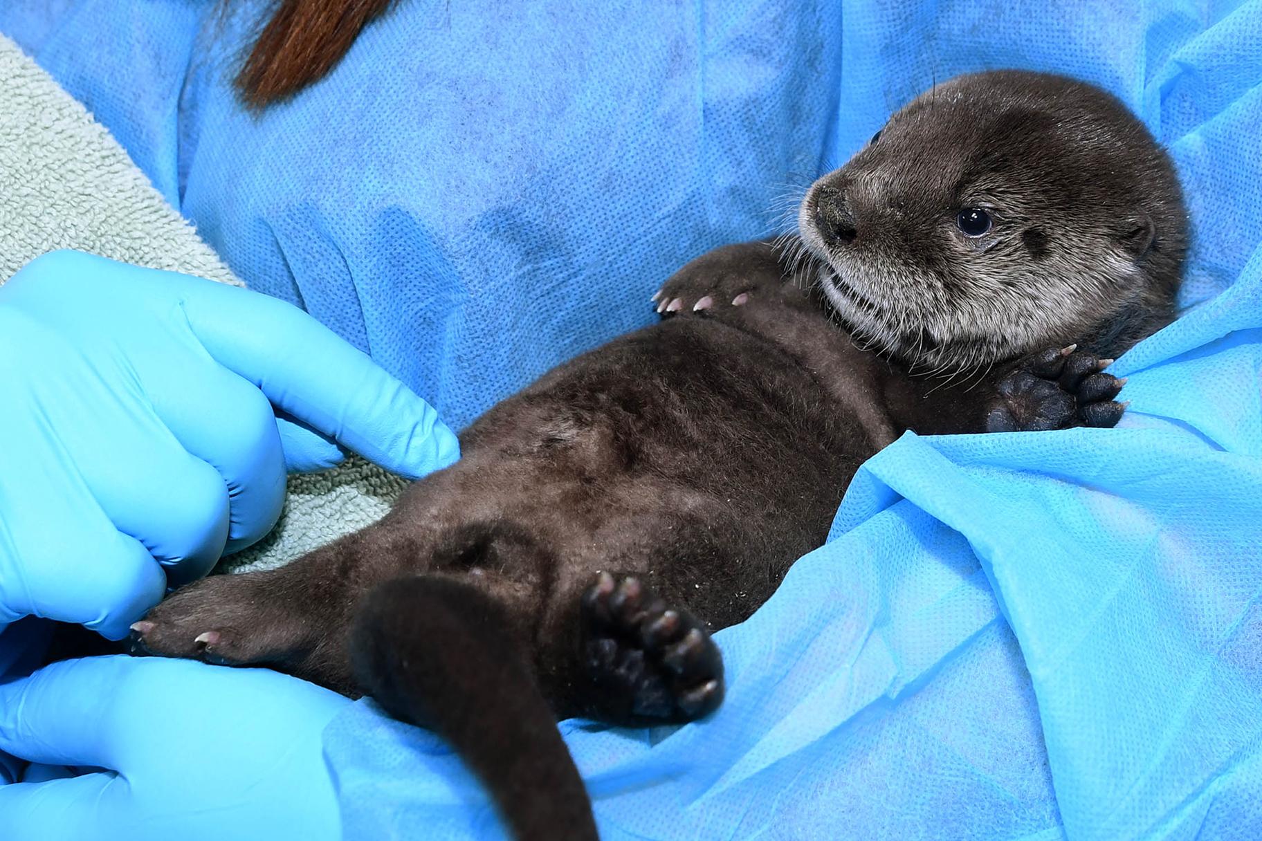
[[[723,700],[723,657],[705,627],[635,577],[601,572],[583,593],[583,666],[617,724],[684,722]]]

